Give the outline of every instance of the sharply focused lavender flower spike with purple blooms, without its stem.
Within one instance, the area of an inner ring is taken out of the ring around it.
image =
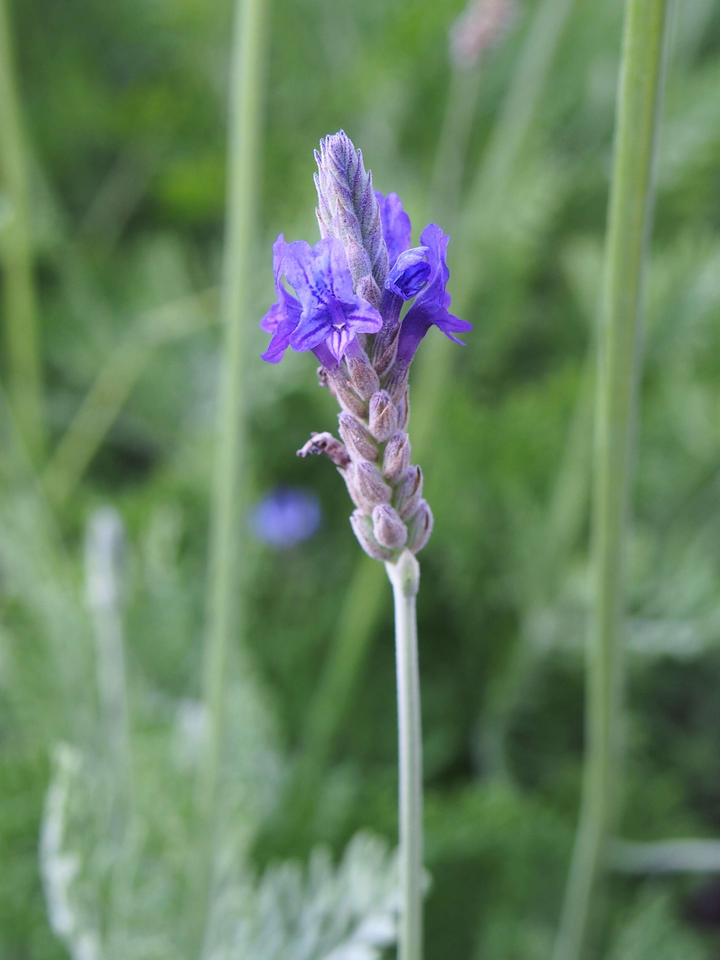
[[[405,546],[417,553],[432,530],[422,473],[410,463],[408,369],[431,326],[462,343],[455,334],[472,324],[448,311],[443,230],[429,224],[420,246],[411,247],[399,197],[372,190],[362,154],[344,132],[326,137],[315,156],[323,239],[311,248],[277,238],[277,302],[261,324],[273,339],[263,357],[276,363],[292,347],[320,361],[320,382],[342,408],[344,443],[313,434],[298,453],[332,460],[357,508],[350,522],[361,546],[376,560],[394,561]],[[294,516],[287,505],[268,508],[263,525],[286,515]]]

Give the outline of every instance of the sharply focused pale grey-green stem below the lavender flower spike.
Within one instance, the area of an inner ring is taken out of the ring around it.
[[[422,960],[422,735],[415,601],[420,565],[405,550],[385,564],[393,585],[399,754],[400,922],[398,960]]]

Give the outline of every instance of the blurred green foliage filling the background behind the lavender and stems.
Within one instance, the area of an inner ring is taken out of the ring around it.
[[[520,5],[514,31],[482,64],[465,187],[534,7]],[[129,538],[126,662],[142,828],[132,843],[155,864],[133,878],[150,885],[150,921],[132,924],[140,938],[150,923],[152,949],[115,948],[174,956],[170,941],[155,938],[180,936],[173,924],[201,687],[218,337],[198,324],[151,351],[142,337],[133,341],[133,324],[218,280],[230,4],[23,0],[11,8],[32,150],[51,448],[97,373],[120,349],[132,358],[133,343],[138,376],[80,487],[53,516],[2,408],[0,955],[65,955],[46,919],[37,854],[55,743],[80,751],[81,770],[89,763],[85,790],[93,778],[107,789],[82,540],[92,511],[111,501]],[[461,8],[458,0],[273,4],[258,317],[272,297],[277,232],[316,236],[312,149],[325,133],[348,131],[376,187],[402,196],[416,234],[429,218],[449,87],[445,36]],[[436,516],[419,605],[428,960],[542,960],[557,921],[582,755],[592,330],[621,12],[619,0],[575,3],[512,190],[483,241],[467,310],[475,331],[455,354],[422,463]],[[720,829],[719,85],[720,7],[678,5],[628,575],[625,832],[638,839]],[[464,255],[462,244],[450,245],[451,272]],[[423,362],[435,348],[431,332]],[[270,848],[252,838],[277,815],[297,763],[358,551],[335,471],[294,456],[335,416],[313,364],[295,354],[281,368],[258,359],[249,389],[253,497],[278,484],[314,489],[324,522],[314,539],[280,553],[242,532],[250,651],[238,639],[229,727],[239,745],[228,745],[224,837],[230,873],[242,866],[248,876],[278,876],[297,905],[312,900],[298,868],[265,873]],[[387,594],[332,762],[313,772],[308,802],[297,804],[291,830],[277,832],[274,857],[305,860],[324,843],[346,863],[359,829],[395,842]],[[106,854],[100,845],[88,861],[100,875],[108,862],[96,860]],[[111,886],[106,876],[93,897],[109,897]],[[267,916],[282,909],[274,896]],[[703,925],[693,929],[698,898]],[[702,881],[658,880],[648,893],[640,879],[616,878],[597,912],[598,948],[612,960],[720,957],[720,895]],[[247,936],[256,936],[251,926]]]

